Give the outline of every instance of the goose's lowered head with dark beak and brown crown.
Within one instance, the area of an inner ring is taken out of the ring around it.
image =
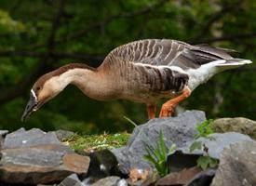
[[[30,92],[30,99],[22,114],[21,121],[28,120],[30,115],[42,107],[48,100],[57,96],[66,86],[65,81],[61,81],[61,75],[47,73],[41,76]]]

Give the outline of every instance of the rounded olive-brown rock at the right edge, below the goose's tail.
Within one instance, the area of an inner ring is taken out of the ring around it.
[[[212,123],[213,130],[219,133],[238,132],[256,140],[256,121],[244,118],[220,118]]]

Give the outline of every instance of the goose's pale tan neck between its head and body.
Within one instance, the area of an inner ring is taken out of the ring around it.
[[[106,73],[91,68],[69,69],[59,76],[63,86],[73,84],[84,94],[95,100],[113,100],[115,90]]]

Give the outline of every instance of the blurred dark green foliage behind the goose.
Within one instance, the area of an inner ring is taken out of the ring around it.
[[[34,81],[69,62],[97,67],[115,46],[144,38],[235,48],[252,65],[219,73],[182,102],[208,118],[256,119],[256,2],[249,0],[0,0],[0,127],[91,133],[130,131],[145,105],[101,102],[68,86],[25,124]],[[99,85],[101,86],[101,85]],[[159,109],[159,108],[158,108]]]

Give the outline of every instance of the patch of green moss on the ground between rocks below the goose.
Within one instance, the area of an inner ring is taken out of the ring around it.
[[[130,134],[127,132],[116,134],[101,134],[101,135],[77,135],[64,140],[64,143],[69,145],[74,150],[84,150],[86,152],[114,149],[127,144]]]

